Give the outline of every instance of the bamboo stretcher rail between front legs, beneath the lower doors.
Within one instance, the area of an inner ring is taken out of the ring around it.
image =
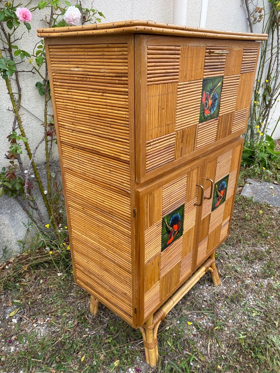
[[[205,275],[208,270],[211,272],[217,272],[217,269],[212,269],[212,264],[215,263],[215,259],[207,259],[204,264],[187,280],[167,301],[161,308],[159,308],[153,314],[152,325],[143,324],[139,327],[146,330],[152,330],[157,324],[161,323],[165,316],[172,310],[172,308],[187,294],[187,292]],[[204,273],[203,273],[204,272]]]

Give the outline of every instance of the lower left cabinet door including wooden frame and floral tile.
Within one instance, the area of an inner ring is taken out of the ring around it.
[[[136,191],[138,325],[193,272],[202,168],[198,159]]]

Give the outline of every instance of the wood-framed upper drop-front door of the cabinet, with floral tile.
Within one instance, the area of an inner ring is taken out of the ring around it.
[[[137,182],[203,157],[246,131],[259,46],[135,35]]]

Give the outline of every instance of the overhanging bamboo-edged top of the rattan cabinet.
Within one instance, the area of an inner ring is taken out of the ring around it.
[[[73,37],[86,35],[111,34],[156,34],[185,37],[231,39],[231,40],[266,40],[267,34],[251,34],[249,32],[235,32],[224,30],[203,29],[197,27],[172,25],[153,21],[120,21],[99,23],[84,26],[69,26],[56,28],[41,28],[37,30],[38,37]]]

